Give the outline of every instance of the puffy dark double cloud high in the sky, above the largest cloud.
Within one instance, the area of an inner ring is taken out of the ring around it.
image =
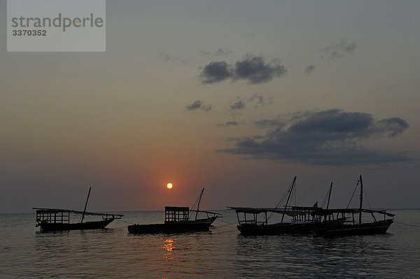
[[[234,66],[228,63],[210,62],[200,74],[202,83],[220,83],[232,78],[235,80],[247,80],[248,83],[267,83],[273,78],[286,75],[287,70],[279,59],[272,59],[266,63],[264,57],[246,55],[244,59],[237,61]]]

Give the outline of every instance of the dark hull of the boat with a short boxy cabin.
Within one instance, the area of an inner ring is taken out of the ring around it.
[[[165,224],[133,224],[127,227],[130,234],[166,234],[190,231],[209,231],[217,217],[183,222],[167,222]]]

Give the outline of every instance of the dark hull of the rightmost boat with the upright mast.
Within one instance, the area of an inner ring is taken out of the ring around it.
[[[316,236],[363,236],[372,234],[386,234],[393,220],[384,220],[379,222],[363,224],[341,224],[330,227],[321,227],[316,229]]]

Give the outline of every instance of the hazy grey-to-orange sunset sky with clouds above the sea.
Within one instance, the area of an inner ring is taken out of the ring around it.
[[[0,213],[420,208],[419,11],[108,0],[106,52],[6,52],[0,0]]]

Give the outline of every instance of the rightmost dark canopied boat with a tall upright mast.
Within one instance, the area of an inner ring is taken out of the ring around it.
[[[345,208],[345,209],[326,209],[318,212],[324,218],[330,218],[334,215],[341,216],[344,222],[329,223],[322,227],[317,227],[314,230],[316,236],[356,236],[356,235],[371,235],[371,234],[385,234],[389,226],[393,223],[394,214],[387,213],[386,210],[368,210],[363,209],[363,180],[362,176],[358,180],[360,184],[360,205],[359,208]],[[357,185],[356,185],[357,187]],[[356,190],[356,189],[355,189]],[[353,192],[354,194],[354,192]],[[372,222],[362,222],[362,213],[368,213],[372,217]],[[358,222],[355,220],[355,215],[358,214]],[[375,214],[383,215],[383,220],[378,220]],[[390,217],[387,219],[387,217]]]

